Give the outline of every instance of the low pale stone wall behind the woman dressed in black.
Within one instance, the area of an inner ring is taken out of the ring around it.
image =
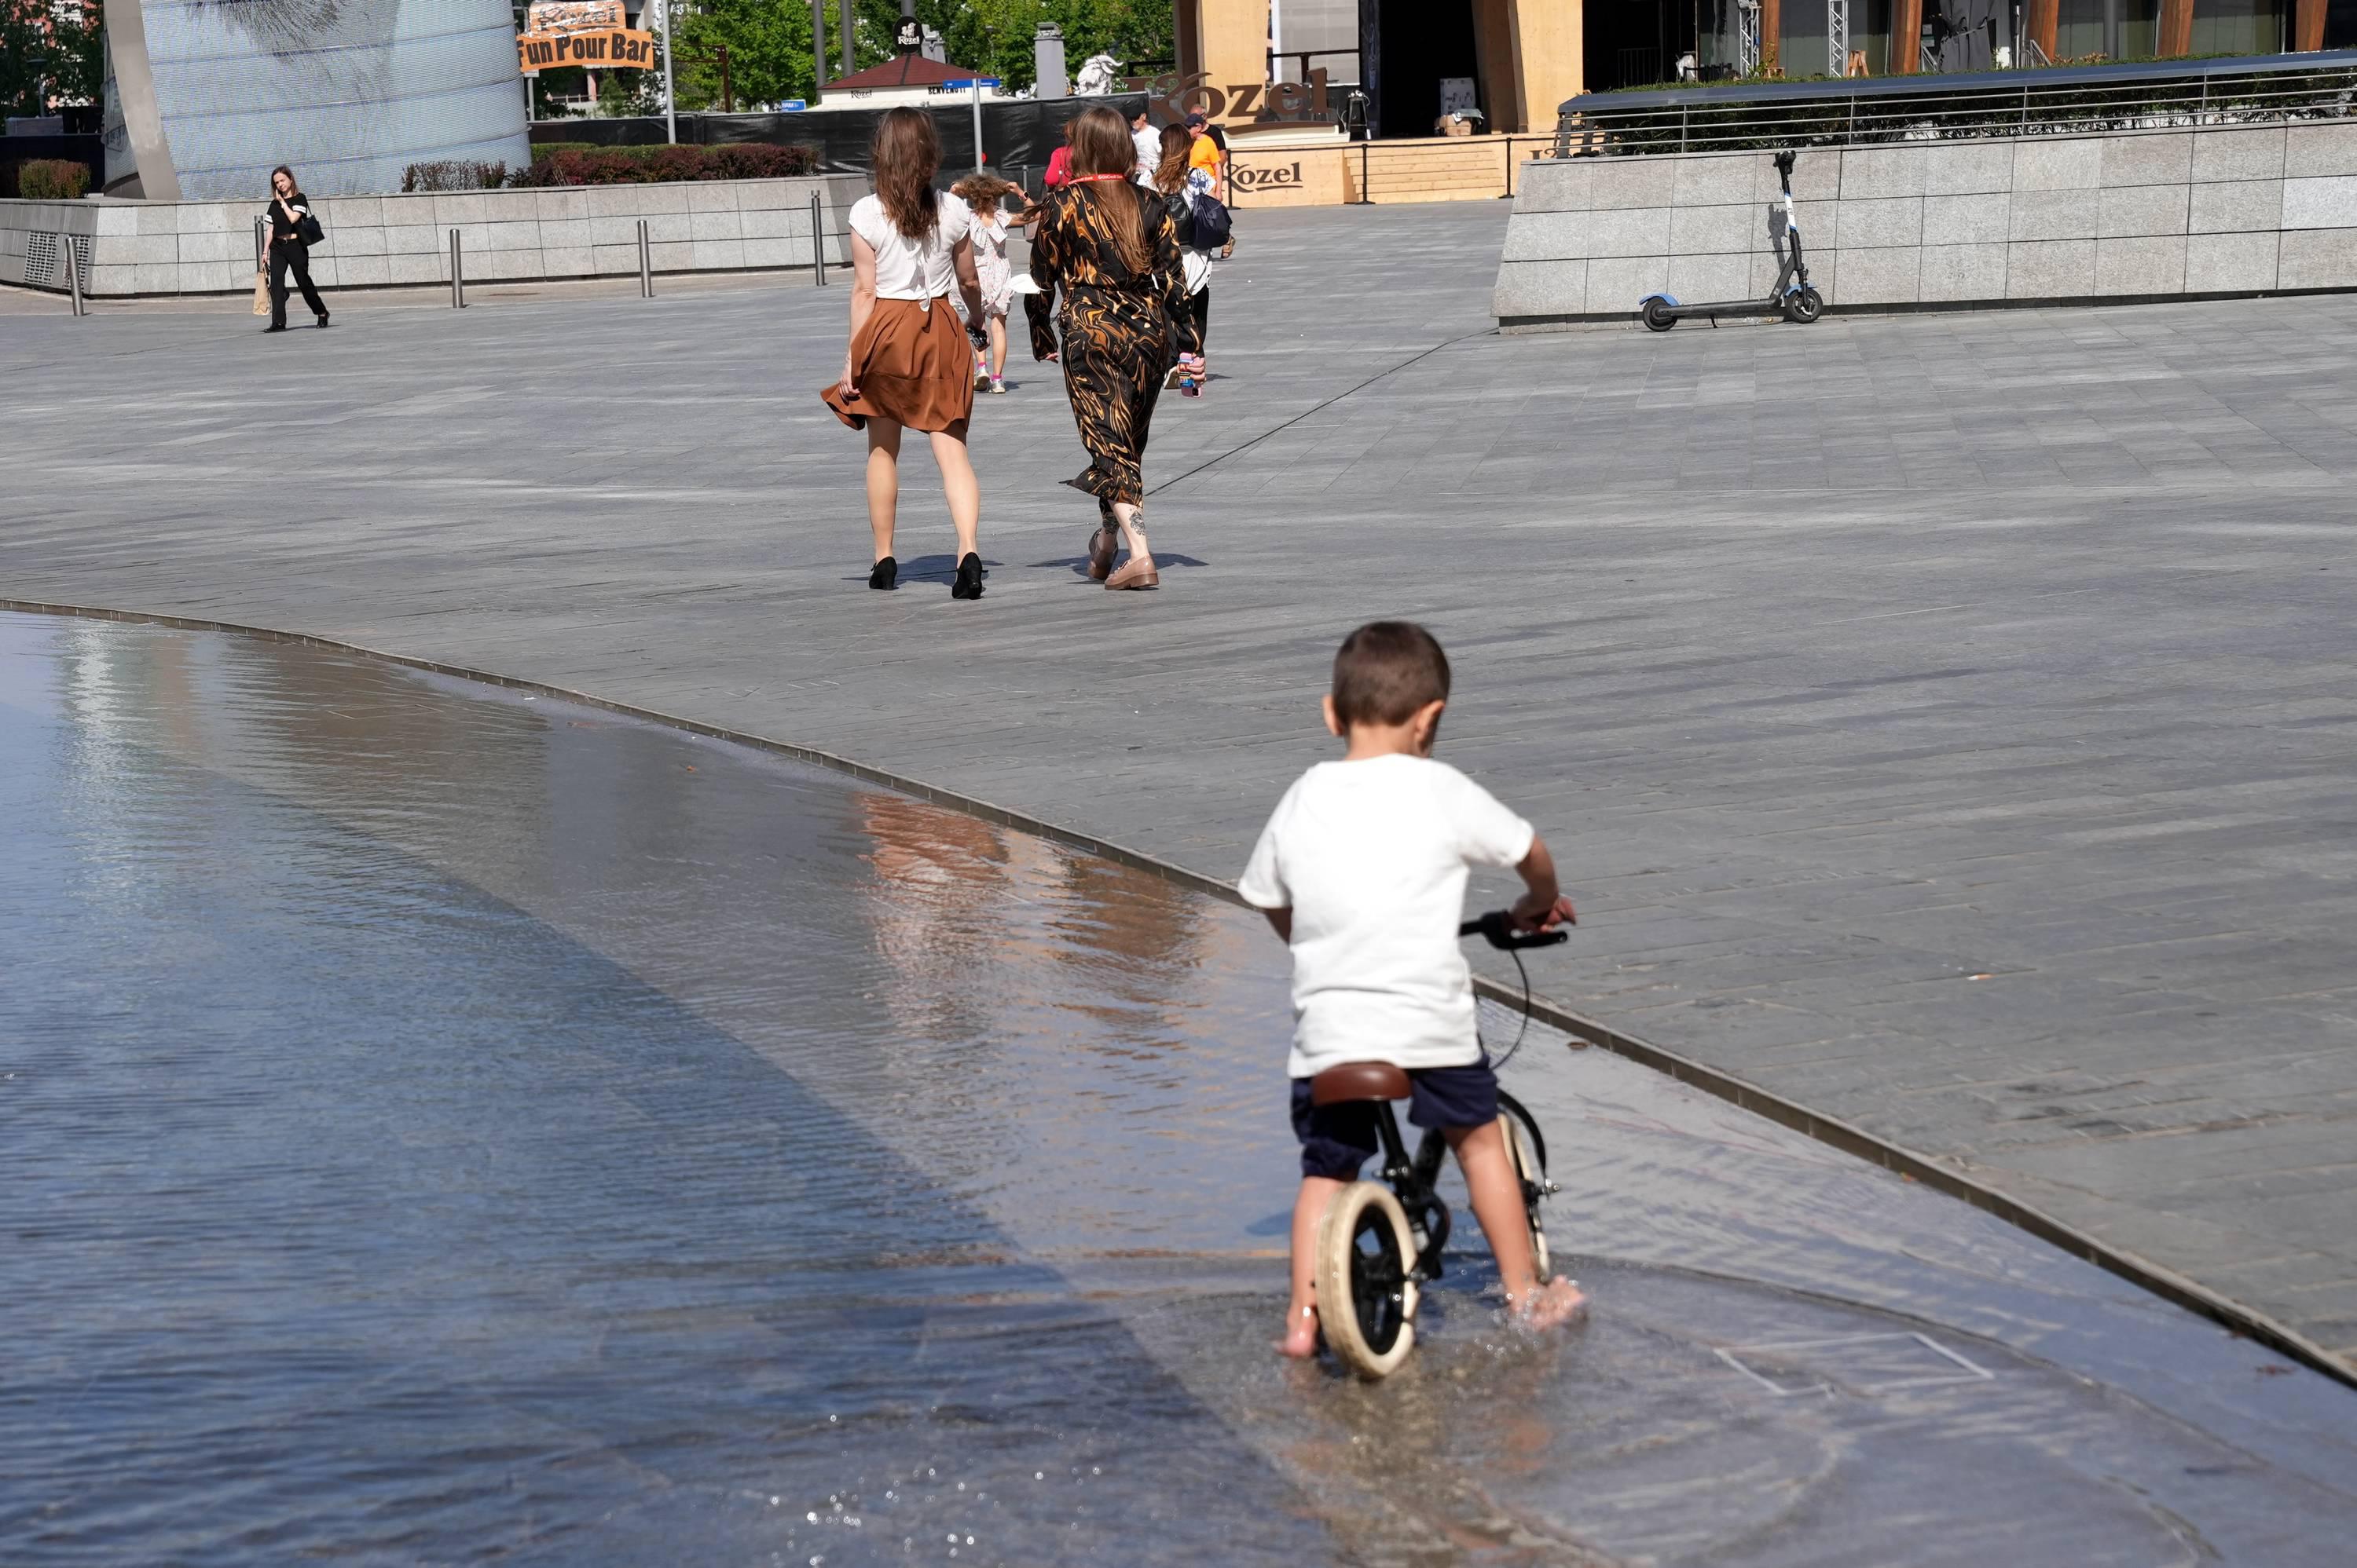
[[[823,198],[827,266],[849,264],[844,219],[860,177],[712,179],[669,186],[563,186],[455,195],[328,195],[328,240],[311,252],[321,287],[450,283],[460,231],[467,283],[629,278],[639,219],[658,273],[731,273],[811,264],[811,195]],[[0,283],[66,290],[59,235],[80,235],[92,297],[240,294],[255,287],[259,200],[0,202]]]

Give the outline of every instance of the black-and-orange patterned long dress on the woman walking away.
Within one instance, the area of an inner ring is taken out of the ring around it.
[[[1110,202],[1136,202],[1148,268],[1134,273],[1105,231]],[[1065,485],[1101,504],[1146,499],[1146,436],[1178,353],[1202,353],[1188,311],[1178,235],[1162,198],[1127,179],[1077,179],[1047,195],[1032,233],[1032,280],[1063,287],[1063,386],[1089,469]]]

